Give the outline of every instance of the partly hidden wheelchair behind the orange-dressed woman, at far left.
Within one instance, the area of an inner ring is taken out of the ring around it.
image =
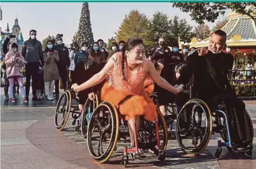
[[[87,61],[84,62],[84,68],[88,69],[90,66],[94,65],[95,62]],[[81,117],[86,118],[86,114],[89,112],[93,112],[93,110],[98,106],[98,97],[96,97],[93,101],[87,99],[85,105],[83,106],[83,111],[80,113],[79,110],[79,98],[77,97],[76,93],[70,89],[71,85],[68,85],[68,89],[61,96],[59,96],[59,100],[55,109],[55,127],[57,130],[61,131],[65,127],[70,113],[73,117],[72,125],[76,125],[75,131],[79,132],[79,128],[81,126],[81,131],[84,136],[86,136],[86,121],[77,120],[77,118]],[[96,95],[97,96],[97,95]],[[73,100],[77,103],[73,105]]]

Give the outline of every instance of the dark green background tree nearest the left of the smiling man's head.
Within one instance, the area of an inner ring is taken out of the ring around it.
[[[186,19],[179,19],[178,16],[170,19],[170,35],[173,37],[173,42],[177,43],[180,37],[183,42],[190,42],[195,36],[193,27],[187,23]]]

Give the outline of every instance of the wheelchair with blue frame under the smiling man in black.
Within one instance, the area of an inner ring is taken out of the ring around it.
[[[253,128],[250,115],[246,110],[245,113]],[[251,131],[251,135],[254,135],[253,130]],[[237,148],[232,143],[228,118],[222,109],[211,111],[204,101],[190,99],[177,116],[176,139],[182,151],[187,154],[201,153],[215,133],[219,133],[224,141],[218,140],[216,159],[221,159],[222,147],[232,152],[245,153],[248,157],[252,155],[253,145]]]

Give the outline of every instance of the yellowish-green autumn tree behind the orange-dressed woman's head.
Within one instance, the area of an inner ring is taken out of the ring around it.
[[[154,42],[154,34],[150,27],[150,20],[138,10],[131,10],[129,15],[125,15],[125,19],[116,34],[118,41],[127,41],[129,38],[141,38],[145,46],[152,46]]]

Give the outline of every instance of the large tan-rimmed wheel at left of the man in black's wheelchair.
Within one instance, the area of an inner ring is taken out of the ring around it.
[[[177,143],[183,152],[199,154],[212,135],[212,115],[202,100],[191,99],[180,110],[176,123]]]

